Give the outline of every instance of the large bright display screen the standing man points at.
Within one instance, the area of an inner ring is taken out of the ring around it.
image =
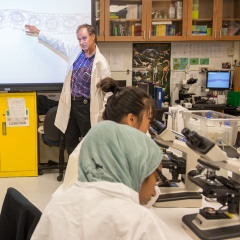
[[[25,24],[78,44],[76,29],[92,23],[89,0],[10,0],[0,9],[0,91],[61,90],[67,57],[27,35]]]

